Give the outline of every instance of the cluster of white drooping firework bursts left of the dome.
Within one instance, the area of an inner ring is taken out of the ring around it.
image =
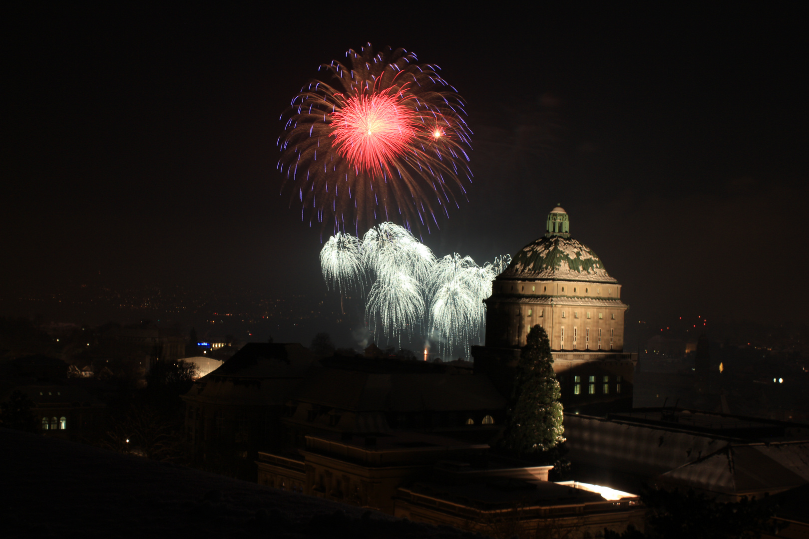
[[[457,253],[436,259],[409,230],[391,222],[371,228],[362,241],[337,233],[320,252],[324,279],[332,288],[361,289],[373,281],[366,322],[376,339],[413,338],[419,333],[438,345],[442,356],[482,342],[485,303],[492,280],[508,267],[510,256],[478,266]],[[341,288],[342,287],[342,288]]]

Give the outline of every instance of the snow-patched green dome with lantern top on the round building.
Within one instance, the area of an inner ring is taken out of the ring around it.
[[[514,255],[499,277],[616,282],[590,247],[570,238],[570,219],[558,206],[549,213],[545,235]]]

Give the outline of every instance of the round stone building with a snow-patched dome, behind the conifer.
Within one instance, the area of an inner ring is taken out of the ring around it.
[[[629,398],[637,357],[624,352],[621,284],[590,247],[570,237],[556,207],[544,236],[524,246],[494,280],[486,300],[485,346],[473,347],[477,372],[510,394],[513,369],[532,326],[548,332],[562,402]]]

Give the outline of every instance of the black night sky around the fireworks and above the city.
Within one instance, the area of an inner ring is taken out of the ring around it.
[[[324,292],[322,230],[279,196],[278,117],[371,42],[467,101],[475,178],[425,237],[437,255],[513,255],[561,203],[628,324],[807,322],[805,9],[203,3],[3,15],[0,297]]]

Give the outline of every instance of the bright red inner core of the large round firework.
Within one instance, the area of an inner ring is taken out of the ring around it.
[[[332,112],[332,137],[337,154],[358,171],[390,175],[390,163],[404,154],[416,137],[417,116],[404,95],[354,95]]]

